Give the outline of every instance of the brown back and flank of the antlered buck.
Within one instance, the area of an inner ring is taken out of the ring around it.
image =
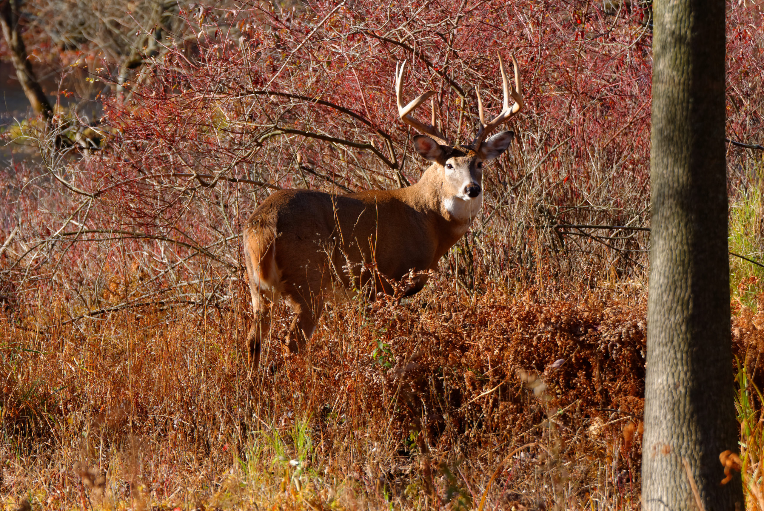
[[[371,190],[332,195],[314,190],[279,190],[253,212],[248,227],[274,230],[277,265],[283,279],[303,279],[313,269],[316,278],[334,264],[335,275],[361,273],[374,265],[385,276],[400,279],[409,270],[426,270],[440,254],[435,243],[432,212],[407,204],[400,190]],[[384,240],[384,242],[383,242]],[[366,272],[368,273],[368,272]],[[348,285],[348,280],[345,285]]]

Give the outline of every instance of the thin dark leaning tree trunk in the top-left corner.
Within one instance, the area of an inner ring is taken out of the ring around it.
[[[0,1],[0,26],[2,26],[2,34],[11,52],[11,61],[24,94],[29,99],[34,112],[42,115],[46,121],[50,121],[53,117],[53,108],[50,108],[50,102],[34,76],[32,65],[27,59],[24,40],[21,39],[21,33],[18,31],[17,0]]]

